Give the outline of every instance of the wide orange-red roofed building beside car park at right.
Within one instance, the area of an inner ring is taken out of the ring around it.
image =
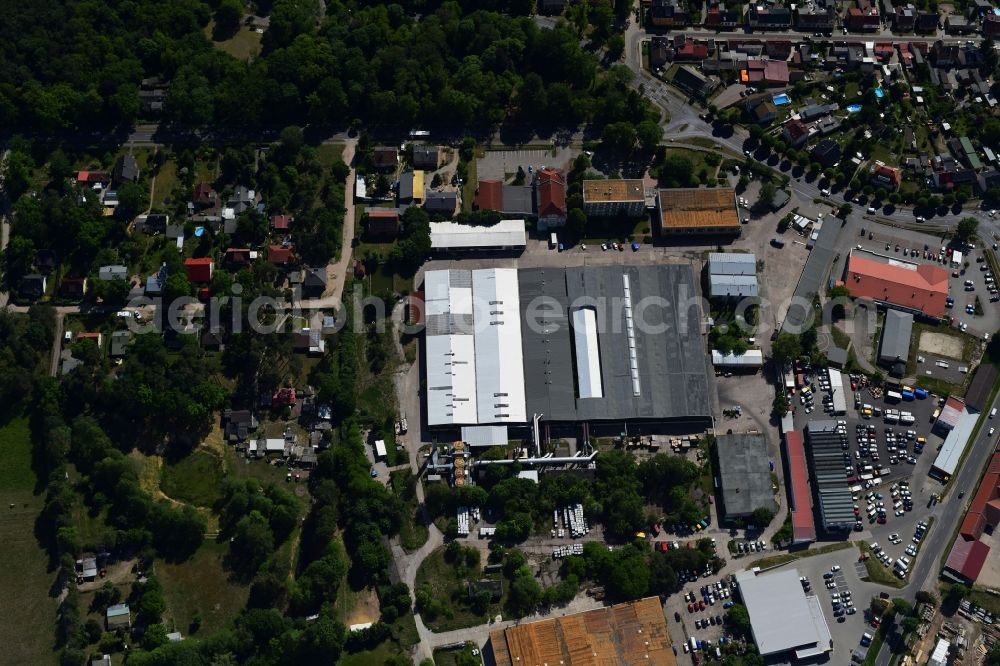
[[[855,298],[940,319],[948,298],[948,271],[932,264],[887,264],[852,252],[844,286]]]

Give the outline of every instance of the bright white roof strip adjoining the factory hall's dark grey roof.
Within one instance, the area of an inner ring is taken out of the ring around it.
[[[472,272],[478,423],[524,423],[521,299],[516,268]]]

